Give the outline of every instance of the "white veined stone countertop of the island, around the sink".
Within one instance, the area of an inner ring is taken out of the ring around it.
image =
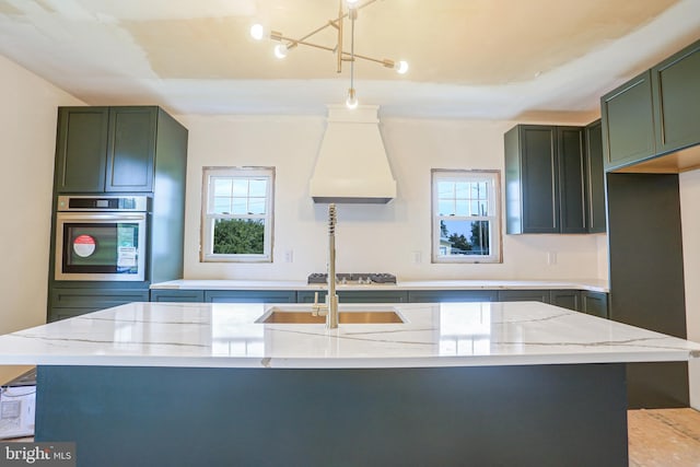
[[[131,303],[0,337],[0,364],[425,367],[685,361],[700,343],[539,302],[341,304],[401,324],[260,324],[271,306]]]

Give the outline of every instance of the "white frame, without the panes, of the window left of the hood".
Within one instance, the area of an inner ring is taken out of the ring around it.
[[[209,206],[213,206],[213,189],[210,189],[210,179],[217,177],[258,177],[269,178],[265,195],[266,214],[224,215],[209,212]],[[201,262],[272,262],[272,246],[275,232],[275,167],[202,167],[201,189],[201,230],[199,242],[199,260]],[[214,254],[213,236],[214,221],[217,219],[265,219],[265,243],[261,255],[223,255]]]

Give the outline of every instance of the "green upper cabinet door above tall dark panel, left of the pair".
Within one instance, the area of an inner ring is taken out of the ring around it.
[[[654,155],[651,71],[600,97],[600,117],[606,171]]]

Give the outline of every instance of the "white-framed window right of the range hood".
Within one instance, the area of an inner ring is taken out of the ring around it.
[[[432,171],[432,261],[501,262],[498,171]]]

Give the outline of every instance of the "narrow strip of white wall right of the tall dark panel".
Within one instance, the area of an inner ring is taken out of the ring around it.
[[[680,174],[680,217],[688,340],[700,342],[700,170]],[[691,361],[690,406],[700,410],[700,362]]]

